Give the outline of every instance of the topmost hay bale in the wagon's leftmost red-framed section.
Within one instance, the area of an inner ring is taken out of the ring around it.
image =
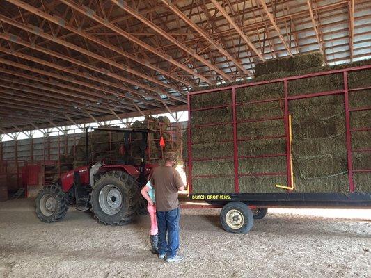
[[[232,104],[232,90],[191,95],[191,109]]]

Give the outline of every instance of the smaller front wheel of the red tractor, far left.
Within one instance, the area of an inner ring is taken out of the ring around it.
[[[36,214],[42,222],[58,222],[65,217],[69,203],[58,183],[45,186],[36,197]]]

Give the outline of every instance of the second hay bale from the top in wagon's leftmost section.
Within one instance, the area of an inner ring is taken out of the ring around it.
[[[194,111],[191,114],[191,126],[201,124],[232,123],[232,108],[218,108],[206,111]]]

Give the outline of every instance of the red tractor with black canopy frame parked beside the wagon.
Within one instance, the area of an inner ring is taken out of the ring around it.
[[[45,186],[36,198],[36,213],[42,222],[57,222],[65,217],[70,204],[79,211],[93,212],[98,222],[123,225],[145,208],[140,188],[155,164],[145,163],[149,129],[98,128],[95,131],[124,133],[124,146],[129,148],[129,134],[141,134],[141,163],[134,165],[128,154],[117,164],[98,161],[88,166],[88,131],[86,130],[86,166],[63,174],[56,183]],[[121,164],[122,163],[122,164]]]

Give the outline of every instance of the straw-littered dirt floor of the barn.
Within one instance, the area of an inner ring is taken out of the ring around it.
[[[180,263],[149,252],[148,228],[148,215],[106,227],[74,208],[44,224],[32,200],[2,202],[0,277],[371,277],[371,210],[274,209],[228,234],[219,209],[184,209]]]

